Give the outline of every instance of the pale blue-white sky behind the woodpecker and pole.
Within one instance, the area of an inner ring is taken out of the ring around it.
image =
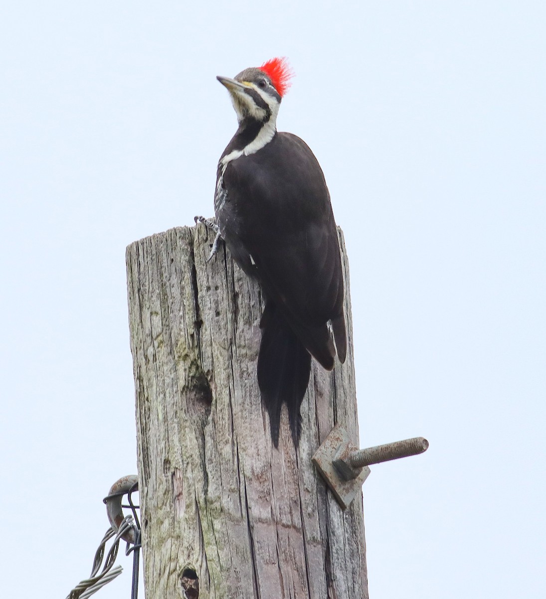
[[[125,247],[213,214],[215,77],[286,55],[278,126],[350,258],[361,444],[430,441],[365,483],[371,597],[544,597],[544,2],[196,4],[0,13],[0,595],[89,574],[137,470]],[[96,597],[130,597],[119,562]]]

